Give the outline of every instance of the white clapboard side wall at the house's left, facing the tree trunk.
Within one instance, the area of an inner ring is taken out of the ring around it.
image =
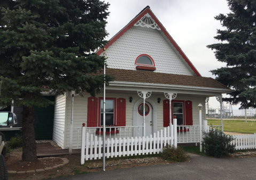
[[[64,148],[66,94],[55,97],[55,113],[52,140]]]

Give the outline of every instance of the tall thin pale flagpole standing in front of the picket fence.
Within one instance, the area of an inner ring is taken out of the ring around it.
[[[104,90],[103,90],[103,171],[105,171],[105,136],[106,136],[106,112],[105,112],[105,104],[106,104],[106,65],[105,65],[105,60],[106,60],[106,48],[104,48]],[[99,147],[100,148],[100,147]],[[99,155],[100,156],[100,155]]]

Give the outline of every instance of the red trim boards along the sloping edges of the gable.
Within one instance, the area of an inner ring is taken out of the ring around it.
[[[144,17],[145,14],[149,13],[151,15],[151,18],[158,24],[160,27],[161,31],[164,32],[165,36],[168,38],[170,43],[176,48],[177,52],[180,53],[182,58],[185,60],[185,62],[188,63],[189,67],[193,70],[193,72],[196,73],[197,76],[201,77],[200,73],[197,71],[197,69],[193,66],[193,64],[190,62],[190,60],[187,58],[187,56],[183,53],[181,48],[177,45],[177,43],[174,41],[174,39],[169,35],[167,30],[165,29],[164,26],[162,26],[161,22],[157,19],[157,17],[153,14],[153,12],[150,10],[149,6],[146,6],[136,17],[131,20],[123,29],[121,29],[114,37],[110,39],[108,44],[104,46],[106,49],[110,47],[118,38],[120,38],[128,29],[134,26],[134,24],[139,21],[141,18]],[[103,48],[100,48],[96,53],[100,55],[103,53]]]

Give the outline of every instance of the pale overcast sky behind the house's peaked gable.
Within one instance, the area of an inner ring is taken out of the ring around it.
[[[214,17],[230,12],[226,0],[110,0],[106,30],[113,37],[126,26],[144,7],[151,11],[163,24],[170,36],[181,47],[201,76],[215,78],[210,70],[226,66],[216,60],[214,53],[206,46],[218,43],[214,39],[217,29],[224,29]],[[223,94],[223,96],[225,96]],[[224,104],[226,105],[226,104]],[[209,107],[219,108],[220,103],[210,97]],[[229,105],[228,105],[229,107]],[[238,109],[239,105],[233,106]]]

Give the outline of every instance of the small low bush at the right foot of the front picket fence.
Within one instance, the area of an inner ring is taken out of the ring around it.
[[[182,148],[176,148],[174,145],[166,145],[165,148],[162,149],[161,156],[165,160],[174,162],[184,162],[189,159],[188,154]]]

